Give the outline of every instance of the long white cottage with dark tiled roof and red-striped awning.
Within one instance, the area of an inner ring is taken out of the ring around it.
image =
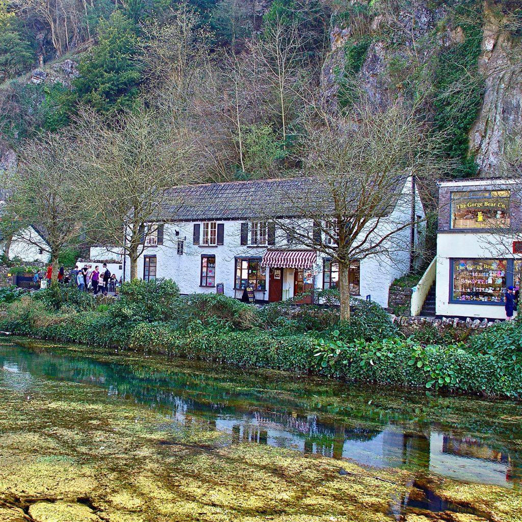
[[[302,180],[301,180],[302,181]],[[260,220],[267,190],[274,192],[300,180],[262,180],[190,185],[170,191],[172,206],[165,205],[165,222],[146,238],[138,275],[145,280],[176,281],[182,294],[224,293],[236,299],[252,289],[256,302],[277,302],[302,291],[336,288],[338,266],[315,250],[292,244],[276,223]],[[402,196],[375,231],[385,234],[389,223],[410,223],[412,208],[424,219],[417,195],[412,204],[411,179],[405,179]],[[291,205],[284,210],[292,216]],[[306,219],[306,218],[304,218]],[[153,225],[153,227],[156,227]],[[313,223],[310,222],[310,233]],[[392,255],[369,255],[350,268],[350,292],[388,305],[390,284],[410,269],[412,242],[420,230],[406,226],[394,237]],[[324,239],[324,238],[323,238]],[[400,245],[400,246],[397,246]],[[391,246],[390,246],[391,248]],[[128,259],[125,277],[130,276]]]

